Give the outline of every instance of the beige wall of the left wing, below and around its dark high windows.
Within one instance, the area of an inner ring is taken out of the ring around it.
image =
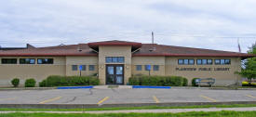
[[[0,57],[17,58],[17,57]],[[36,58],[36,57],[19,57]],[[46,79],[48,75],[65,75],[65,57],[37,57],[54,58],[54,64],[0,64],[0,86],[11,85],[13,78],[20,78],[20,85],[24,84],[25,79],[34,78],[38,82]]]

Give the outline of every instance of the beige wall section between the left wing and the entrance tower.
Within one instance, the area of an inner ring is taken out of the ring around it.
[[[66,57],[66,75],[80,75],[79,67],[72,71],[72,65],[86,65],[86,71],[81,71],[84,76],[98,73],[98,57]],[[89,71],[89,65],[94,65],[94,71]]]

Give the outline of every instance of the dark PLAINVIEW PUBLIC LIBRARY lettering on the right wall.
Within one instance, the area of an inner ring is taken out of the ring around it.
[[[176,71],[229,71],[230,68],[176,68]]]

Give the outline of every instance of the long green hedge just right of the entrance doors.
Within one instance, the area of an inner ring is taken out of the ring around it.
[[[162,85],[182,86],[187,85],[187,79],[181,76],[147,76],[135,75],[128,79],[131,85]]]

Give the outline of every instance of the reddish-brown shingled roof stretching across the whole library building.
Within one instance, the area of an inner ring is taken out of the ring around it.
[[[79,45],[58,45],[49,47],[30,47],[27,49],[0,50],[0,57],[4,56],[98,56],[90,47],[99,45],[131,45],[140,50],[132,54],[133,57],[168,56],[168,57],[239,57],[249,58],[256,55],[245,53],[210,50],[202,48],[182,47],[174,45],[141,44],[125,41],[106,41]],[[133,50],[135,50],[135,48]],[[78,49],[82,51],[78,51]]]

